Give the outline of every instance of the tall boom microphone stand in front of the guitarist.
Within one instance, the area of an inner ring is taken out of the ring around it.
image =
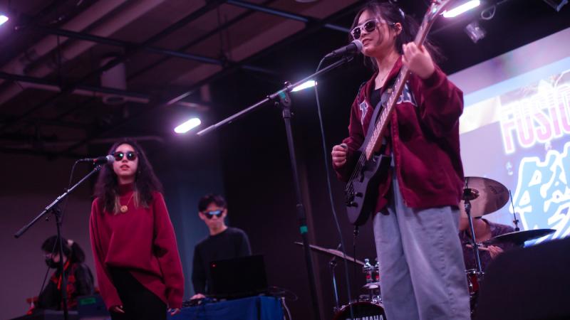
[[[277,92],[268,95],[264,100],[257,102],[256,104],[247,107],[246,109],[237,112],[236,114],[223,119],[216,124],[212,124],[211,126],[207,127],[206,129],[201,130],[197,134],[202,136],[207,134],[208,132],[212,132],[214,129],[222,127],[224,124],[229,124],[234,122],[234,120],[243,117],[245,114],[249,114],[253,110],[256,110],[258,107],[266,105],[268,102],[273,102],[274,105],[281,107],[282,109],[282,117],[285,122],[285,130],[287,134],[287,145],[289,146],[289,160],[291,161],[291,170],[293,171],[293,180],[295,186],[295,196],[296,196],[296,211],[297,211],[297,219],[299,220],[299,231],[301,233],[301,238],[303,240],[303,247],[305,253],[305,262],[306,262],[306,269],[307,273],[309,274],[309,289],[311,290],[311,302],[313,305],[313,309],[315,310],[315,319],[321,319],[321,311],[318,308],[318,299],[316,295],[316,281],[315,281],[315,273],[313,267],[313,260],[311,258],[311,249],[309,247],[309,228],[306,225],[306,214],[305,208],[303,206],[303,196],[301,192],[301,182],[299,181],[299,171],[297,169],[297,160],[295,155],[295,143],[293,139],[293,131],[291,129],[291,96],[289,93],[293,90],[294,87],[301,85],[302,83],[306,82],[307,80],[316,79],[320,75],[327,73],[334,68],[337,68],[344,63],[348,63],[351,61],[353,57],[351,56],[344,56],[341,60],[338,60],[336,63],[328,65],[326,68],[319,70],[318,72],[309,75],[309,77],[304,78],[294,84],[290,82],[285,82],[285,87]]]

